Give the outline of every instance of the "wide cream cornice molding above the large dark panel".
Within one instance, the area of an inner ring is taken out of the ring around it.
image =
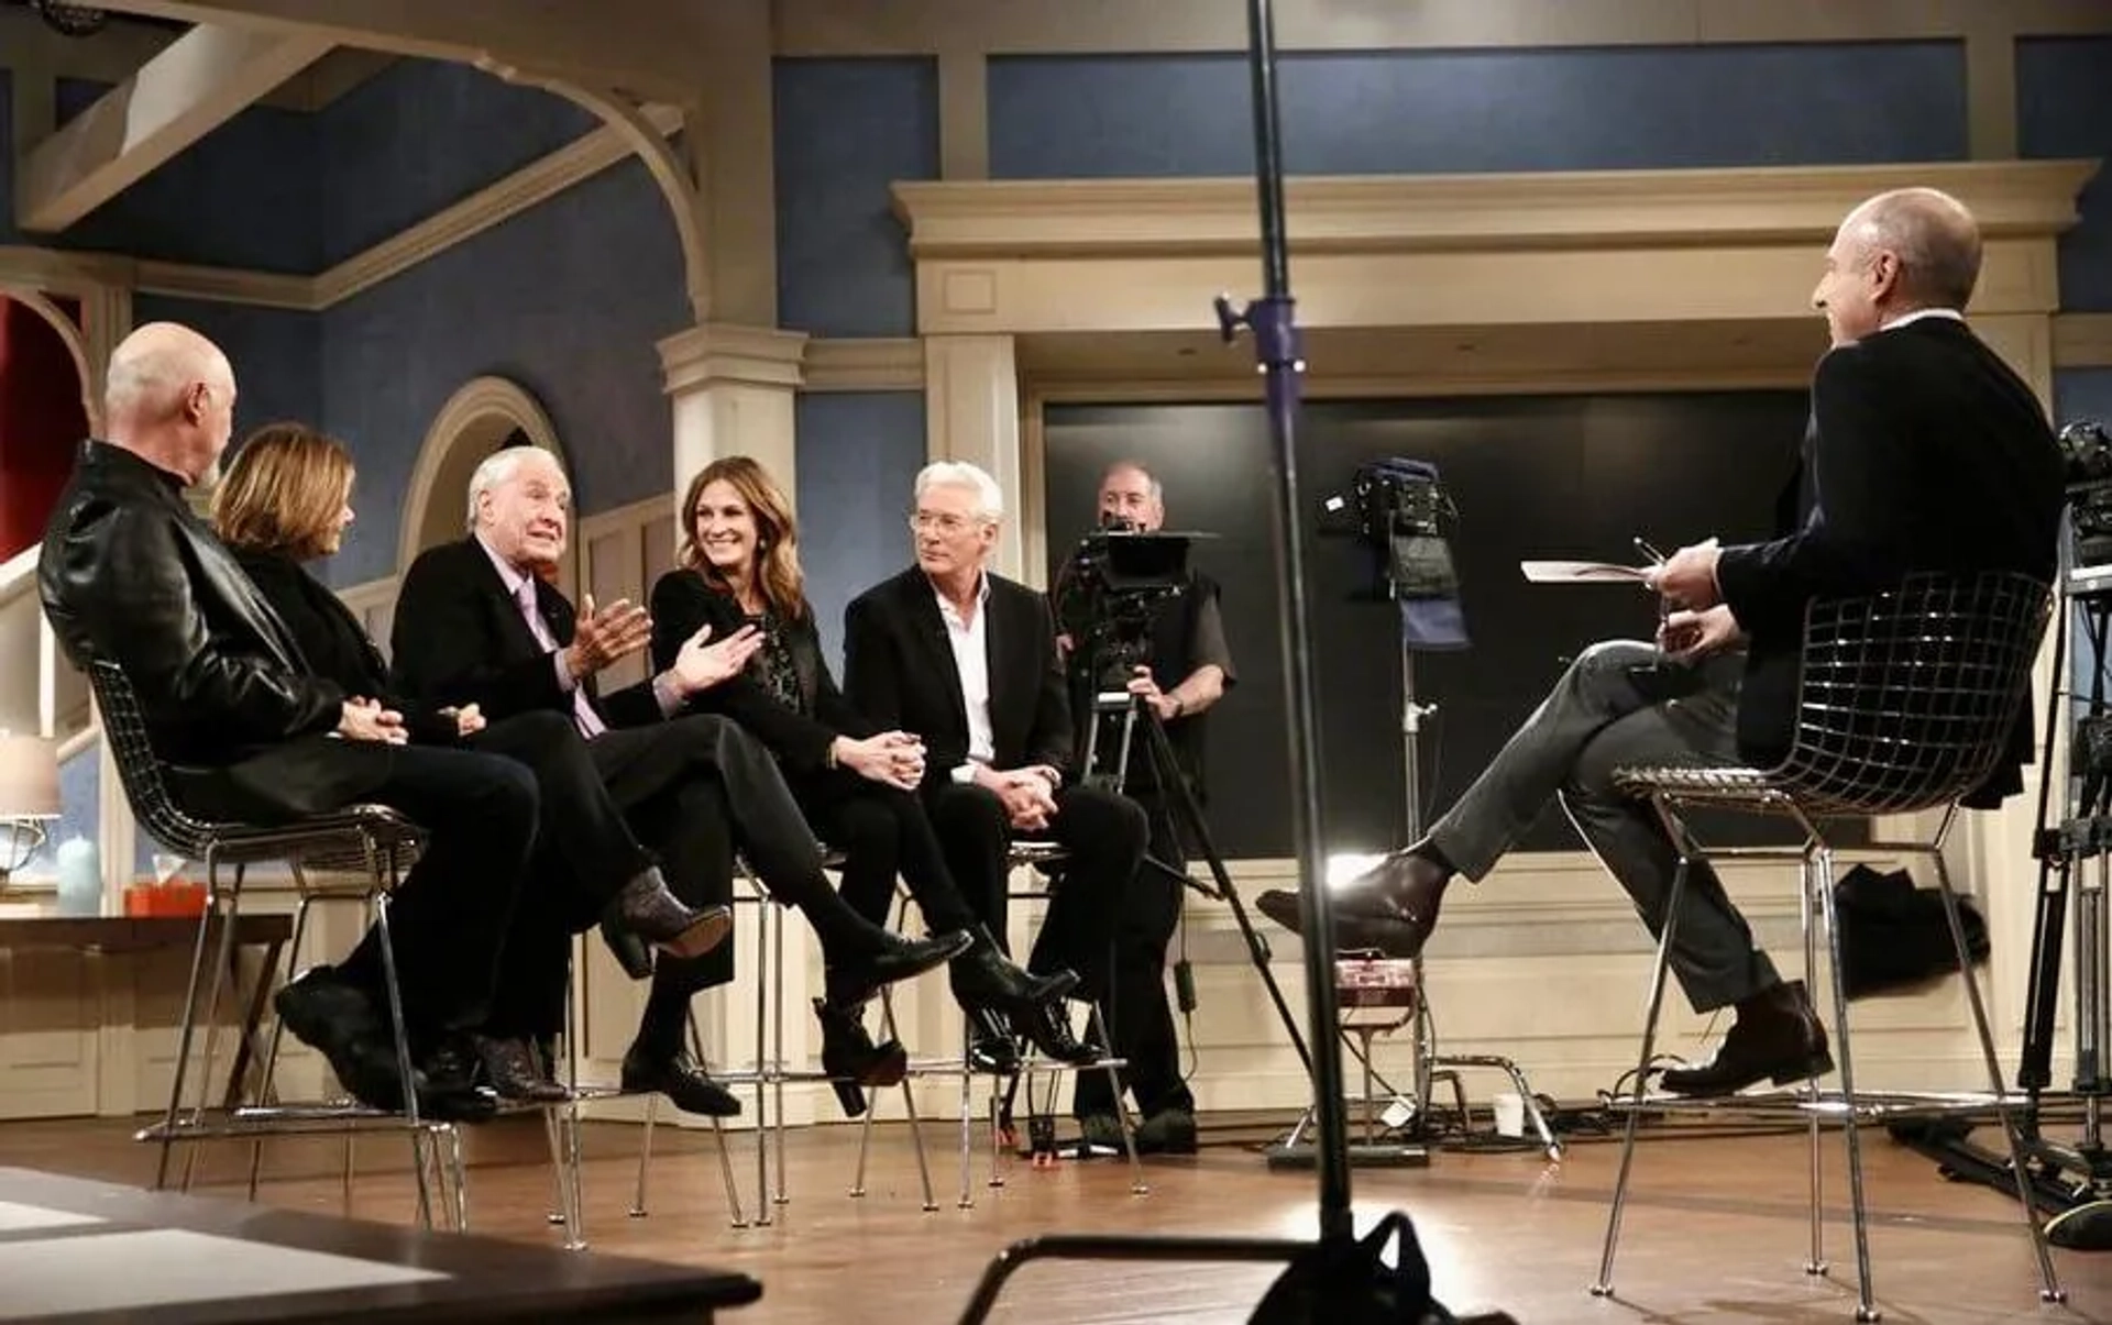
[[[2059,306],[2053,238],[2095,160],[1312,177],[1286,184],[1299,323],[1810,325],[1840,219],[1905,184],[1958,194],[1987,236],[1977,314]],[[1255,285],[1246,179],[895,186],[925,335],[1195,333]],[[1588,344],[1578,342],[1588,354]]]

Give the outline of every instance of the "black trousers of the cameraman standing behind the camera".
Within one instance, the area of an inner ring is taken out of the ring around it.
[[[1174,869],[1187,869],[1187,848],[1181,842],[1172,806],[1157,787],[1138,793],[1151,823],[1151,857]],[[1138,869],[1115,920],[1115,952],[1109,971],[1107,1038],[1117,1057],[1128,1059],[1121,1084],[1136,1099],[1136,1110],[1151,1116],[1164,1110],[1195,1112],[1195,1095],[1181,1080],[1181,1040],[1174,1036],[1174,1011],[1166,998],[1166,947],[1181,924],[1183,886],[1157,869]],[[1073,1087],[1073,1112],[1113,1114],[1115,1091],[1105,1072],[1079,1072]]]

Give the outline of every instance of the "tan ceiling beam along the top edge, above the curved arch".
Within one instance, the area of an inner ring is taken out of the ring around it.
[[[667,0],[106,0],[103,8],[327,38],[397,55],[528,70],[691,101],[714,30],[712,2]]]

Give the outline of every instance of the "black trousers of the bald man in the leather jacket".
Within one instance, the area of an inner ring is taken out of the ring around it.
[[[490,1013],[515,897],[534,848],[534,776],[513,760],[454,747],[378,741],[302,741],[298,762],[313,781],[361,787],[342,804],[380,804],[425,829],[425,850],[389,901],[403,1021],[418,1049],[448,1032],[482,1025]],[[294,753],[275,751],[275,755]],[[194,787],[186,808],[211,819],[247,819],[253,802],[220,802]],[[382,1000],[380,933],[370,926],[338,971]]]

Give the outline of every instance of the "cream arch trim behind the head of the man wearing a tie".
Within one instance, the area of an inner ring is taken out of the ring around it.
[[[410,570],[429,546],[460,538],[469,525],[469,475],[513,433],[524,435],[572,471],[558,428],[543,405],[520,382],[507,378],[473,378],[465,382],[433,416],[418,445],[403,492],[403,525],[397,530],[397,574]],[[570,557],[560,580],[570,587]]]

